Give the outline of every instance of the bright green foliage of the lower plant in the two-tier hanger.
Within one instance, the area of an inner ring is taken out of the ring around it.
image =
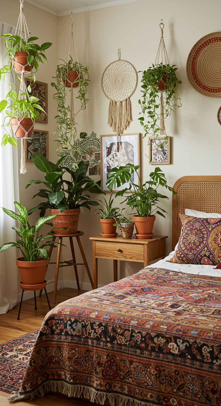
[[[40,119],[39,112],[36,110],[43,110],[43,108],[39,105],[39,99],[34,96],[30,96],[28,99],[26,98],[27,95],[25,93],[21,93],[21,96],[25,96],[24,99],[18,99],[18,95],[15,90],[11,90],[7,96],[6,100],[2,100],[0,102],[0,112],[4,109],[6,110],[7,117],[4,119],[4,123],[2,126],[6,133],[2,137],[2,146],[10,143],[11,145],[17,146],[16,139],[12,136],[12,129],[11,129],[11,119],[13,118],[30,118],[30,119]],[[11,101],[13,103],[11,103]],[[10,128],[10,130],[8,130]]]

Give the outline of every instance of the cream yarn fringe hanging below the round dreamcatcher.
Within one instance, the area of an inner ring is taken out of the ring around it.
[[[116,135],[119,136],[122,134],[123,130],[127,128],[127,125],[131,121],[131,107],[129,97],[123,100],[124,106],[122,108],[122,102],[114,102],[110,100],[109,109],[108,109],[108,121],[112,130],[116,132]]]

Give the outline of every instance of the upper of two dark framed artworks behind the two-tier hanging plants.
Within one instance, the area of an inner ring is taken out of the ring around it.
[[[46,112],[45,114],[43,111],[36,109],[40,114],[40,120],[35,119],[35,122],[47,124],[47,83],[38,82],[38,80],[36,80],[35,82],[32,80],[32,82],[30,82],[30,80],[27,78],[25,78],[25,82],[26,86],[28,87],[30,85],[30,88],[32,90],[29,95],[38,97],[40,106]]]

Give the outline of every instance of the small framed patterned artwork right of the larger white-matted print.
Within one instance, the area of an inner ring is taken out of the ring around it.
[[[155,141],[150,137],[149,164],[170,164],[170,137],[167,144],[163,140],[164,137],[158,137]]]

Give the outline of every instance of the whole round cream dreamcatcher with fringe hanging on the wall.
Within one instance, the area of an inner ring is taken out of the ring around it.
[[[127,60],[110,63],[101,78],[103,93],[109,99],[108,121],[119,136],[131,121],[130,97],[137,87],[137,71]]]

